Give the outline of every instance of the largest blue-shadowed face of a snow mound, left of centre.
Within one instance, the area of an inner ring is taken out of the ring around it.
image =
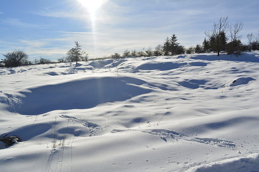
[[[151,92],[140,86],[145,83],[132,77],[100,77],[31,88],[21,92],[23,97],[9,96],[9,111],[39,115],[55,110],[90,109]]]

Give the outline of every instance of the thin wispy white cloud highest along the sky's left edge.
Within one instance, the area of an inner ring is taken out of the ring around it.
[[[26,23],[26,22],[22,22],[19,19],[15,19],[15,18],[9,18],[6,20],[0,20],[3,24],[5,25],[11,25],[11,26],[15,26],[15,27],[23,27],[23,28],[48,28],[49,26],[41,26],[38,24],[32,24],[32,23]]]

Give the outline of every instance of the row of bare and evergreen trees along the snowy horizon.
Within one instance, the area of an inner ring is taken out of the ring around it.
[[[212,29],[205,31],[205,39],[202,45],[197,44],[195,47],[190,46],[185,48],[180,45],[175,33],[171,37],[167,37],[163,44],[158,44],[154,50],[151,47],[141,50],[126,49],[122,54],[114,53],[103,58],[121,58],[121,57],[142,57],[142,56],[169,56],[179,54],[193,54],[216,52],[226,52],[227,54],[240,55],[243,51],[259,50],[259,31],[257,35],[253,33],[247,34],[248,44],[241,43],[240,32],[243,29],[243,22],[236,22],[235,24],[228,22],[228,17],[220,17],[218,22],[214,22]],[[28,60],[28,55],[22,50],[15,50],[3,54],[5,57],[0,61],[0,67],[16,67],[21,65],[33,64],[47,64],[53,63],[49,59],[40,58],[34,61]],[[58,62],[78,62],[88,60],[88,53],[81,50],[81,45],[75,41],[75,47],[70,49],[66,56],[58,58]]]

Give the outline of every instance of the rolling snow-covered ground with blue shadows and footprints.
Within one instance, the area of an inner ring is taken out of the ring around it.
[[[259,171],[259,52],[0,68],[0,171]]]

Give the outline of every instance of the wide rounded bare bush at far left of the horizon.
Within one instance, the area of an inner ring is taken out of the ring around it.
[[[22,61],[27,61],[28,55],[22,50],[14,50],[3,54],[5,59],[2,59],[6,67],[17,67],[22,65]]]

